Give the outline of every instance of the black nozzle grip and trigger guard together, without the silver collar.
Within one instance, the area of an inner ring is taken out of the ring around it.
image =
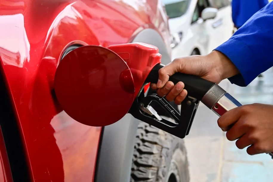
[[[159,76],[158,71],[162,67],[164,67],[163,64],[156,64],[149,72],[145,83],[156,83]],[[141,121],[179,138],[184,138],[189,134],[199,102],[211,88],[219,86],[198,76],[183,73],[175,73],[169,77],[169,80],[174,84],[182,81],[185,85],[184,88],[188,91],[188,95],[181,103],[180,113],[165,98],[161,98],[157,94],[144,97],[144,93],[135,98],[129,113]],[[147,112],[147,110],[153,112]]]

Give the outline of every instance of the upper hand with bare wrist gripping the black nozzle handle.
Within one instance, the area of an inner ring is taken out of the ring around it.
[[[218,51],[212,51],[212,53],[204,56],[192,55],[175,59],[159,70],[158,83],[151,83],[150,88],[157,90],[160,97],[166,95],[165,98],[168,101],[175,101],[177,105],[180,105],[185,99],[187,91],[182,82],[174,85],[173,82],[168,81],[169,76],[176,72],[198,75],[217,84],[221,80],[239,73],[229,58]]]

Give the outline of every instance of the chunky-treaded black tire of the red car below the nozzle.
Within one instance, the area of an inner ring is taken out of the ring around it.
[[[183,139],[144,122],[138,125],[130,182],[189,182]]]

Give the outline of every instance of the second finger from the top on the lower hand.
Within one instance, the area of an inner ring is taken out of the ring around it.
[[[242,119],[238,120],[227,132],[226,138],[229,141],[235,141],[247,132],[247,128],[244,127]]]

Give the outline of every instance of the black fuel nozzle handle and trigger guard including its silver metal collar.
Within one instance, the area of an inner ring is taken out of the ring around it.
[[[157,64],[144,84],[157,83],[158,70],[163,66],[163,64]],[[164,98],[157,94],[145,97],[144,91],[135,98],[128,113],[172,135],[184,138],[189,134],[200,101],[218,116],[242,106],[219,85],[198,76],[175,73],[169,77],[169,80],[174,84],[182,81],[184,88],[188,91],[188,95],[181,103],[180,114]],[[269,155],[273,159],[272,152]]]

